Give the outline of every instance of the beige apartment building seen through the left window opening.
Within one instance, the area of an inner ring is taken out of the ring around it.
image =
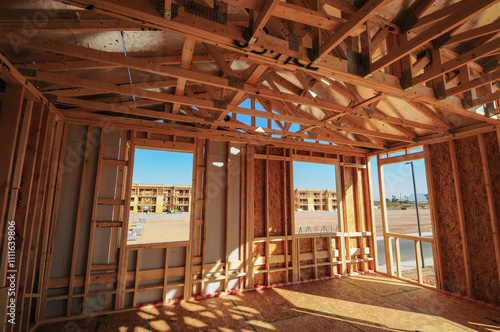
[[[191,186],[163,184],[132,184],[130,212],[189,212]]]

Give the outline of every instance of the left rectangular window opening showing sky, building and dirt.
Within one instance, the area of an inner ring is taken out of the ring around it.
[[[189,241],[193,154],[136,149],[128,244]]]

